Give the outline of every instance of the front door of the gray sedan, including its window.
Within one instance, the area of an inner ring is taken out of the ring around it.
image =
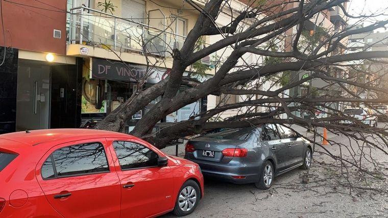
[[[303,139],[292,130],[282,125],[277,125],[282,137],[281,141],[288,147],[288,166],[300,163],[303,160]]]

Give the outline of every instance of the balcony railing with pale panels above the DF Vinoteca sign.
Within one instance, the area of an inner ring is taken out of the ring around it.
[[[171,57],[174,49],[181,49],[186,37],[123,19],[84,6],[70,9],[69,44],[99,46],[104,49]],[[203,42],[203,44],[206,43]],[[210,64],[211,56],[202,62]]]

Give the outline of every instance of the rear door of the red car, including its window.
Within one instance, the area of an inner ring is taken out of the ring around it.
[[[106,139],[60,144],[36,166],[52,207],[65,217],[119,217],[120,184]]]

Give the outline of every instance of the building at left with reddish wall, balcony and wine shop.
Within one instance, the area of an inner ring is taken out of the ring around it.
[[[173,0],[10,0],[2,9],[1,133],[103,119],[139,81],[146,79],[147,88],[168,76],[172,50],[180,49],[200,14]],[[126,132],[157,101],[134,114]],[[161,121],[179,122],[205,109],[206,98]]]

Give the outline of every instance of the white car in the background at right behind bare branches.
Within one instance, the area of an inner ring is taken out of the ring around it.
[[[369,108],[345,108],[343,114],[353,117],[355,120],[360,120],[362,123],[377,127],[378,119],[373,110]],[[354,120],[340,120],[341,125],[352,126],[355,124]]]

